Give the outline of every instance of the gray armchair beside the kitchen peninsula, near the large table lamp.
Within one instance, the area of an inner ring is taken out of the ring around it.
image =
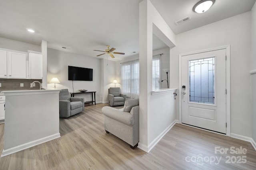
[[[70,117],[84,110],[84,98],[71,98],[68,89],[60,90],[60,117]]]

